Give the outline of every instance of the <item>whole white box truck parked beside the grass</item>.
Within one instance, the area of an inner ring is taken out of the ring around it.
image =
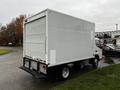
[[[94,33],[94,23],[50,9],[33,15],[24,23],[21,69],[35,77],[52,74],[66,79],[71,66],[97,67]]]

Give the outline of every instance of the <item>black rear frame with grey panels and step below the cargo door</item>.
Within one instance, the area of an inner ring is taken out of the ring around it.
[[[20,69],[30,73],[35,78],[43,78],[47,76],[47,65],[36,60],[23,58],[23,66]]]

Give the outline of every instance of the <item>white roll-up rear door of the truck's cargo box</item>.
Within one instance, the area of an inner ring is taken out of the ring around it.
[[[25,24],[24,54],[45,60],[46,17]]]

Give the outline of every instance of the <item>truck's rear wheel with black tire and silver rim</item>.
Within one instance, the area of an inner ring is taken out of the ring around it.
[[[68,66],[61,67],[60,79],[65,80],[70,76],[70,68]]]

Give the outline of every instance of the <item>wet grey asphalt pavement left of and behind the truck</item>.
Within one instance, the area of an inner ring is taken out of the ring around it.
[[[0,56],[0,90],[49,90],[61,82],[35,79],[19,69],[22,65],[22,48],[0,47],[13,50]]]

